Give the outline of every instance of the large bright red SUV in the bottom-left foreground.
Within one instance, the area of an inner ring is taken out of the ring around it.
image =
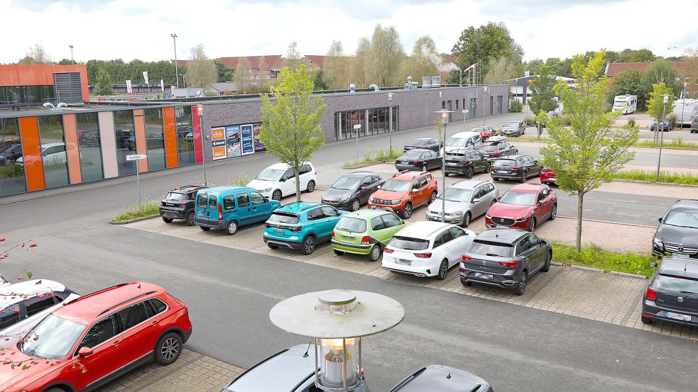
[[[120,284],[61,306],[0,352],[0,391],[92,391],[151,361],[178,359],[187,306],[154,284]]]

